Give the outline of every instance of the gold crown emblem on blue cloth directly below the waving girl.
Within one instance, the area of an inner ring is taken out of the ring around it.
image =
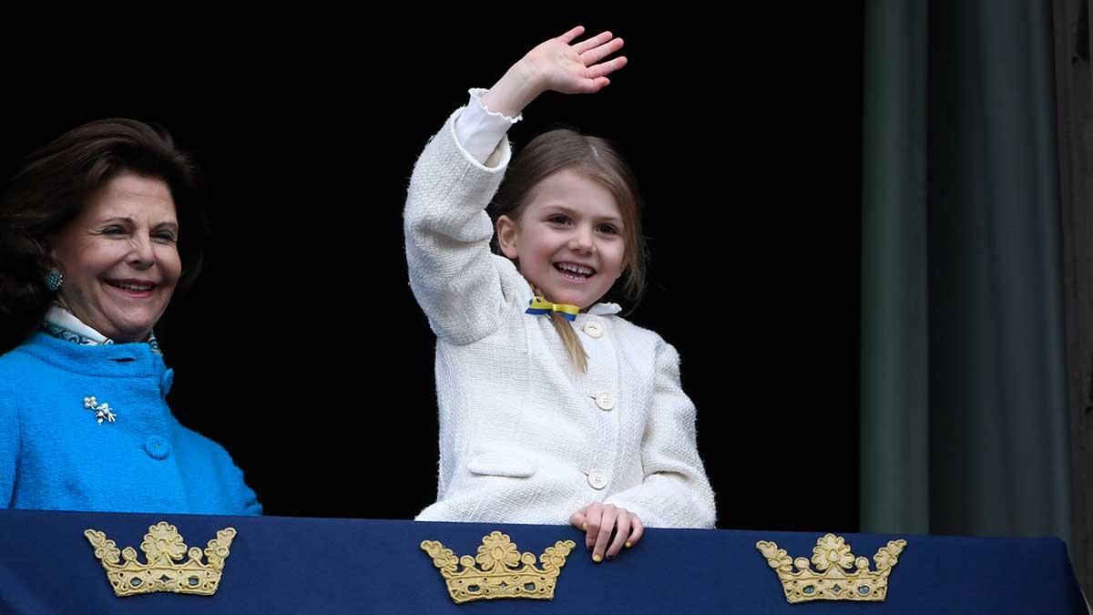
[[[436,541],[421,543],[421,549],[433,558],[433,566],[440,570],[448,584],[448,595],[457,604],[497,597],[553,600],[557,576],[565,566],[566,556],[576,546],[573,541],[559,541],[546,547],[539,556],[542,564],[539,568],[534,565],[534,555],[520,554],[508,534],[501,532],[482,537],[477,557],[457,558],[451,549]],[[475,562],[481,568],[477,568]]]

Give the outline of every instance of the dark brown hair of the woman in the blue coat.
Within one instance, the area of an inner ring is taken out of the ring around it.
[[[208,224],[201,172],[160,126],[134,119],[84,124],[31,152],[0,196],[0,353],[40,323],[54,300],[46,287],[49,236],[72,222],[93,193],[121,173],[164,182],[178,217],[189,288],[205,259]]]

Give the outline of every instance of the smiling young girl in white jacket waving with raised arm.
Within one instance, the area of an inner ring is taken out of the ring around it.
[[[418,520],[568,521],[600,561],[645,525],[712,527],[715,512],[675,350],[597,303],[616,281],[640,291],[630,172],[604,141],[552,131],[502,184],[505,132],[528,103],[597,92],[626,63],[606,60],[622,39],[577,43],[583,32],[471,91],[418,160],[404,229],[410,286],[437,336],[437,501]]]

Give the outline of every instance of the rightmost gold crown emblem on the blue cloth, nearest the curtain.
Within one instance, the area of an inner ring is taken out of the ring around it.
[[[778,572],[781,589],[790,603],[809,602],[812,600],[857,600],[881,602],[888,596],[888,578],[892,567],[898,562],[898,555],[907,546],[907,541],[889,541],[873,556],[877,570],[869,569],[869,560],[865,557],[854,558],[850,545],[842,536],[827,534],[816,539],[812,549],[812,564],[818,571],[809,567],[809,560],[798,557],[796,560],[786,555],[786,549],[778,545],[760,541],[755,548],[763,554],[766,562]],[[794,567],[797,572],[794,572]]]

